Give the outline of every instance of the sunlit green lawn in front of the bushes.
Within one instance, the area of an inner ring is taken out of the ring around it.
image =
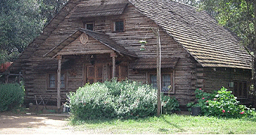
[[[234,119],[176,114],[127,120],[72,121],[72,125],[76,130],[88,130],[90,133],[256,133],[256,118]]]

